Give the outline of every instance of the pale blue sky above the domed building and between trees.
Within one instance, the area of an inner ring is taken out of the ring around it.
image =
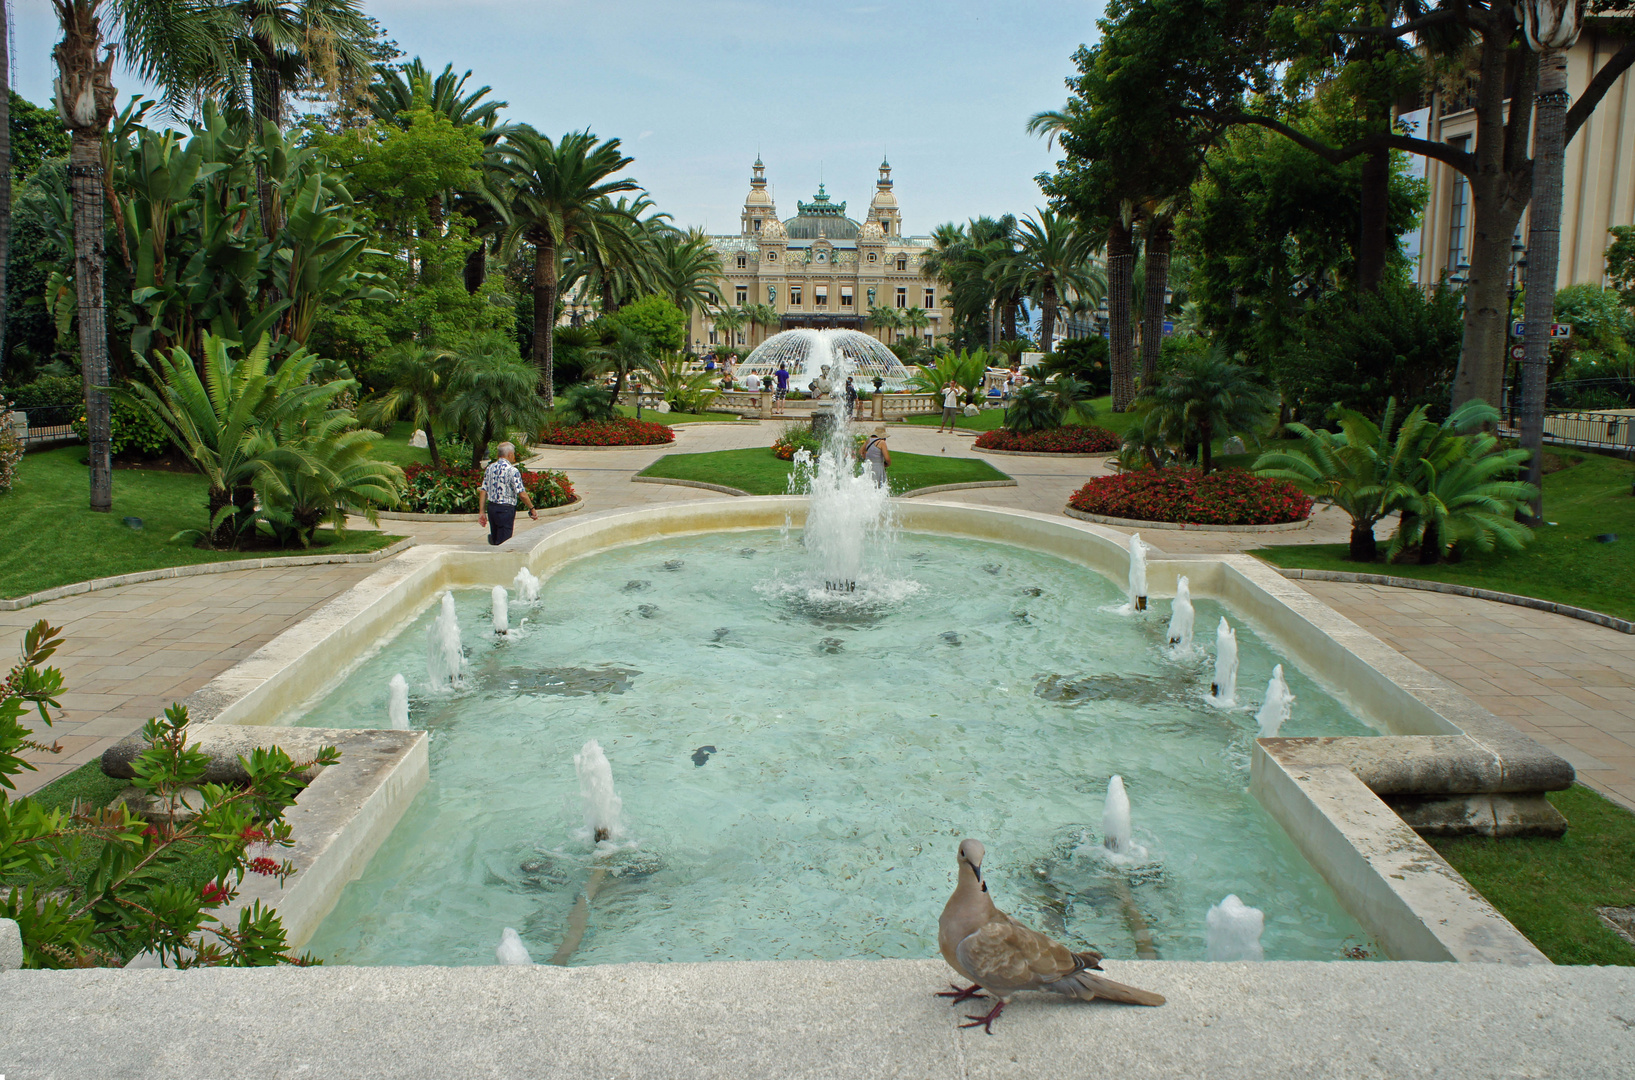
[[[47,0],[11,0],[11,80],[51,98]],[[505,119],[623,141],[679,225],[737,232],[760,154],[778,214],[822,178],[858,221],[881,155],[904,232],[1025,214],[1056,155],[1024,131],[1068,96],[1100,2],[365,0],[405,56],[471,69]],[[139,83],[116,72],[121,106]]]

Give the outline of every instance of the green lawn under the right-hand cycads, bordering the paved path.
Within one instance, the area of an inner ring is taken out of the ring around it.
[[[1521,593],[1635,619],[1635,464],[1601,454],[1563,453],[1560,472],[1543,477],[1545,520],[1534,541],[1514,556],[1465,556],[1462,562],[1422,567],[1416,562],[1360,564],[1346,559],[1344,544],[1292,544],[1252,554],[1280,567],[1391,573],[1472,588]],[[1617,533],[1610,544],[1597,534]],[[1388,528],[1377,526],[1380,552]]]

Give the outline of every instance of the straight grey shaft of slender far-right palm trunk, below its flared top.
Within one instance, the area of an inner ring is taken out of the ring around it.
[[[1522,366],[1522,448],[1532,498],[1532,524],[1543,520],[1543,392],[1550,374],[1550,324],[1555,322],[1555,273],[1561,248],[1561,170],[1566,145],[1566,52],[1552,49],[1539,62],[1539,119],[1534,126],[1534,199],[1527,222],[1525,361]]]

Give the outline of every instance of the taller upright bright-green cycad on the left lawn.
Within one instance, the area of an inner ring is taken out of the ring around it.
[[[204,335],[198,366],[181,348],[157,353],[157,371],[142,359],[154,386],[131,382],[118,390],[162,425],[209,484],[211,546],[232,546],[255,531],[255,493],[288,497],[284,475],[319,471],[299,443],[280,443],[276,431],[320,417],[352,382],[311,382],[317,356],[293,353],[268,371],[271,345],[263,337],[234,359],[227,343]],[[203,377],[199,373],[203,371]]]

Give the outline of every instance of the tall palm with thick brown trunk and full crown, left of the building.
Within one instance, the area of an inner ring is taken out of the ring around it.
[[[549,405],[561,252],[580,235],[602,230],[600,199],[638,188],[634,180],[611,178],[634,158],[620,154],[618,139],[602,142],[589,131],[577,131],[553,142],[531,127],[508,134],[499,155],[507,180],[504,250],[533,245],[533,363]]]

